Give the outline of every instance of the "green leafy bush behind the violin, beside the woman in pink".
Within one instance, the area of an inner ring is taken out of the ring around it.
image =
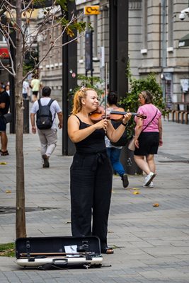
[[[155,74],[149,74],[146,78],[135,79],[130,74],[130,68],[128,69],[127,76],[130,79],[130,93],[126,93],[120,103],[124,105],[125,110],[130,112],[137,112],[139,108],[138,96],[141,91],[149,91],[153,96],[153,103],[161,111],[163,116],[168,115],[169,110],[166,110],[166,104],[163,99],[163,92],[161,86],[156,81]],[[128,139],[134,134],[135,122],[134,118],[130,120],[129,126],[127,127]]]

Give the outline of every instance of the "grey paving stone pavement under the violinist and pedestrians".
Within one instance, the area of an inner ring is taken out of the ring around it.
[[[144,188],[144,177],[131,175],[123,189],[120,178],[113,177],[108,243],[115,253],[103,255],[103,267],[25,270],[16,258],[0,257],[0,282],[189,283],[189,125],[163,124],[155,187]],[[0,243],[16,239],[15,213],[3,213],[16,204],[14,134],[8,134],[8,151],[0,157],[6,162],[0,165]],[[62,156],[61,132],[50,168],[41,168],[38,135],[24,134],[24,158],[27,235],[70,236],[72,156]]]

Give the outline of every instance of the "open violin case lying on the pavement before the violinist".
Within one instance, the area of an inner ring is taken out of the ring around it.
[[[21,267],[101,267],[100,240],[96,236],[17,238],[16,263]]]

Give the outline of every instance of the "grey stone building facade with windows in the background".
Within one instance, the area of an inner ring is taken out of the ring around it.
[[[91,5],[100,5],[101,13],[84,15],[84,6]],[[104,62],[109,60],[109,1],[76,0],[76,8],[83,21],[92,23],[93,76],[103,79]],[[182,47],[182,43],[179,46],[179,40],[188,34],[189,28],[188,13],[183,21],[179,18],[185,8],[188,8],[188,0],[129,1],[128,56],[132,75],[139,79],[154,72],[168,107],[171,101],[189,101],[189,47]],[[86,74],[85,40],[85,36],[78,40],[78,74]],[[48,37],[40,40],[40,56],[48,41]],[[87,74],[90,75],[90,71]],[[52,87],[56,96],[62,96],[61,48],[42,62],[40,78]]]

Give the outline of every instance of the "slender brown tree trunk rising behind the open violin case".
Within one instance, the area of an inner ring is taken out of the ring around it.
[[[21,0],[16,0],[16,23],[22,29]],[[23,161],[23,38],[16,30],[16,238],[26,237]]]

